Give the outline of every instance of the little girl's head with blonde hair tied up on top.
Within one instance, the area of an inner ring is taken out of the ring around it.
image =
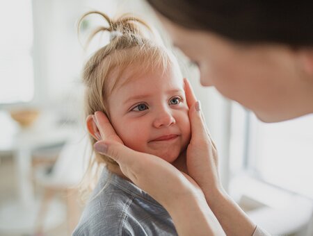
[[[175,57],[143,35],[138,24],[147,25],[140,19],[121,17],[113,21],[103,13],[96,13],[109,24],[102,31],[111,32],[113,37],[84,68],[86,116],[98,110],[104,112],[127,146],[172,162],[190,138],[184,83]],[[171,99],[177,104],[172,104]],[[143,106],[145,111],[138,110]],[[92,123],[88,122],[88,128],[93,135]],[[172,149],[169,141],[152,141],[166,135],[177,136],[171,137]],[[94,143],[94,137],[91,139]],[[168,155],[170,150],[172,155]],[[98,162],[116,164],[110,158],[96,155]]]

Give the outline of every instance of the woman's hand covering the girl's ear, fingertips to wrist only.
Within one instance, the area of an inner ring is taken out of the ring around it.
[[[95,150],[118,162],[127,178],[162,205],[170,203],[170,197],[173,196],[203,196],[195,181],[170,163],[155,155],[134,151],[125,146],[103,112],[95,112],[95,120],[102,137],[102,141],[95,144]]]

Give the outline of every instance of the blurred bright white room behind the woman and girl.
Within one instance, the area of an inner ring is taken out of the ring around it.
[[[0,235],[71,235],[83,210],[77,186],[90,146],[81,69],[109,37],[83,49],[90,26],[102,23],[88,17],[79,40],[89,10],[134,13],[171,47],[143,0],[0,1]],[[313,116],[262,124],[201,87],[198,68],[173,51],[202,102],[227,192],[273,235],[313,235]]]

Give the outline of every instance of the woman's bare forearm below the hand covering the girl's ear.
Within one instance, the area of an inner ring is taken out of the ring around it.
[[[172,199],[165,206],[179,236],[225,235],[204,198],[189,195]]]

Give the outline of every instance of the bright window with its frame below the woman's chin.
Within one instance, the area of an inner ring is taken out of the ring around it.
[[[232,174],[313,198],[313,115],[266,124],[235,104],[232,116]]]

